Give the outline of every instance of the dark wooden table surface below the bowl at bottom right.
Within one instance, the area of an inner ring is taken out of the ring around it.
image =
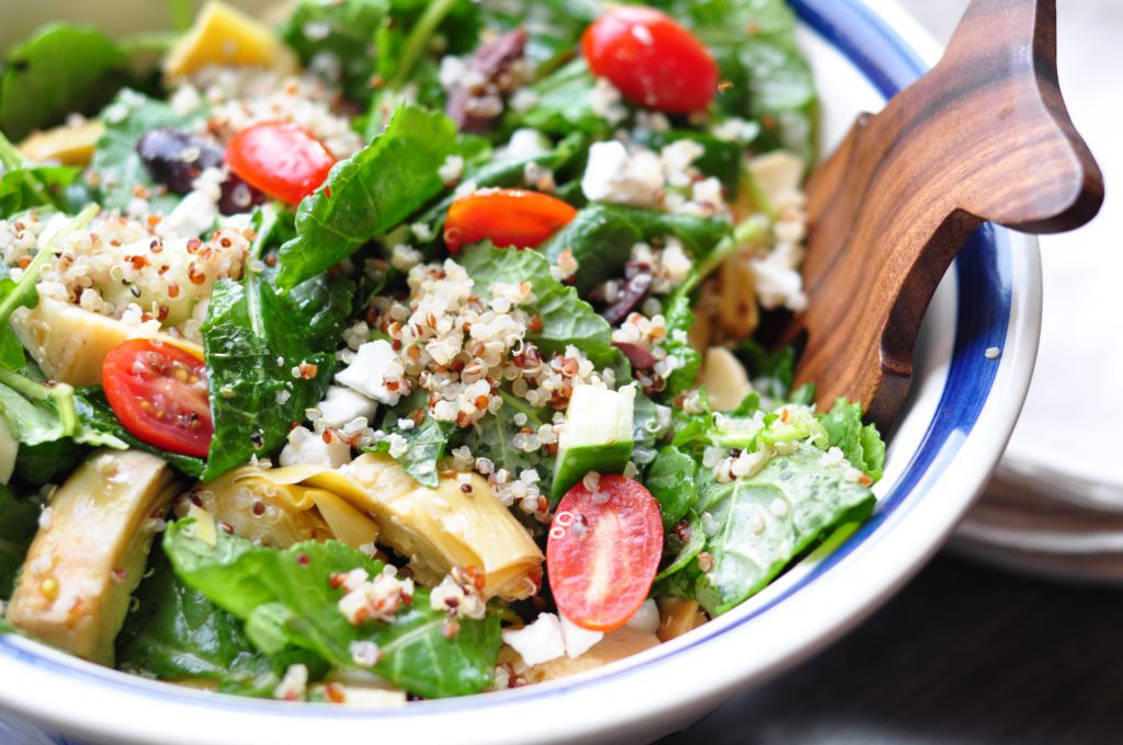
[[[1123,589],[939,557],[800,668],[660,745],[1123,742]]]

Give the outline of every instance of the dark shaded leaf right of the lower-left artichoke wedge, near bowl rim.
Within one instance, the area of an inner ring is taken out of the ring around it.
[[[256,650],[241,623],[176,577],[163,552],[154,555],[117,640],[120,670],[156,680],[208,680],[225,693],[270,696],[298,662],[313,680],[327,673],[326,663],[308,652]]]

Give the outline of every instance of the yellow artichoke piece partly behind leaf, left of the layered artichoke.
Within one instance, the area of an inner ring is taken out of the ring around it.
[[[353,549],[374,543],[378,525],[329,488],[300,484],[294,469],[243,466],[200,484],[176,504],[176,516],[201,507],[232,532],[265,546],[335,539]],[[287,476],[286,476],[287,472]]]

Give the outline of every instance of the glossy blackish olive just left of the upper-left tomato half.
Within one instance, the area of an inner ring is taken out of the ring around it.
[[[137,141],[137,155],[157,184],[176,194],[189,193],[203,171],[222,167],[222,148],[179,129],[150,129]],[[249,212],[265,195],[229,174],[222,182],[218,208],[222,214]]]

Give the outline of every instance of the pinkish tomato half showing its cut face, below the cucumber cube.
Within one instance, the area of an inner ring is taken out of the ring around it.
[[[623,626],[651,591],[663,553],[659,504],[638,481],[601,476],[558,503],[546,571],[563,616],[599,632]]]

